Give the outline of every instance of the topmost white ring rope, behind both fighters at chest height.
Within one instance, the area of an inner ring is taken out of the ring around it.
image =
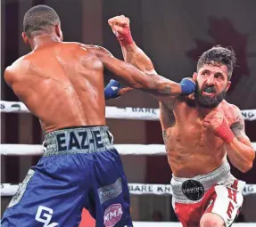
[[[29,109],[21,101],[0,101],[1,112],[29,113]],[[241,110],[244,120],[256,120],[256,109]],[[106,118],[159,120],[159,109],[135,107],[106,107]]]

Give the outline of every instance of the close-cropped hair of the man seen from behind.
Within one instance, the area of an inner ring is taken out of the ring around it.
[[[23,20],[23,30],[27,36],[33,32],[52,32],[54,25],[61,24],[61,20],[53,8],[39,4],[29,9],[25,13]]]

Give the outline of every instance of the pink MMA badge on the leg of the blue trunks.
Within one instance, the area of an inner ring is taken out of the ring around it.
[[[120,203],[112,204],[104,212],[104,226],[105,227],[114,226],[116,223],[120,221],[122,214],[123,214],[123,210]]]

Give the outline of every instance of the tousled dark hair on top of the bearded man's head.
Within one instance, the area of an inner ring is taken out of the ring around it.
[[[233,69],[235,67],[235,52],[233,49],[224,48],[220,45],[213,46],[208,51],[202,53],[199,61],[197,62],[197,71],[203,65],[226,65],[227,66],[227,80],[232,77]]]

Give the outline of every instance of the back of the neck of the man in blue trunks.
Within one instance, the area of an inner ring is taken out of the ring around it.
[[[31,46],[32,50],[36,50],[39,47],[56,42],[61,42],[61,39],[52,34],[38,35],[29,39],[29,45]]]

